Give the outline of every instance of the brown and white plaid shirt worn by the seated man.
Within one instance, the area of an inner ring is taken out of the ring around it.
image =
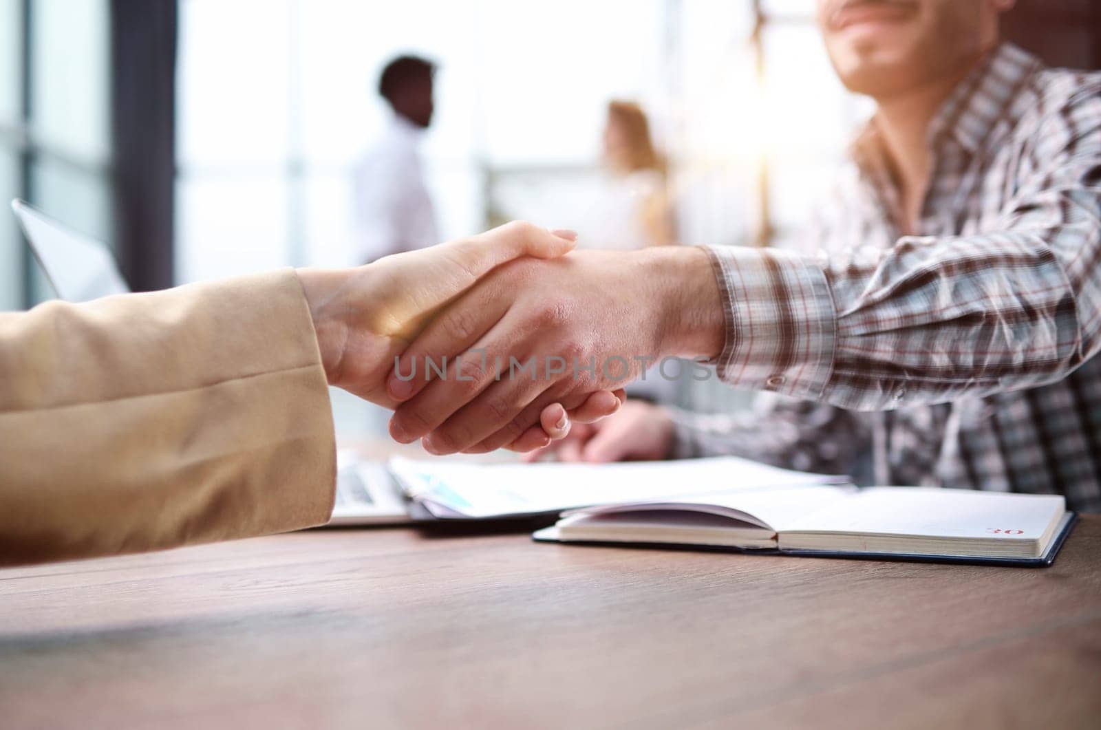
[[[1101,74],[1003,45],[928,139],[919,236],[900,235],[873,121],[806,250],[708,249],[719,375],[774,395],[763,413],[677,413],[674,456],[865,464],[860,481],[1058,492],[1099,511]]]

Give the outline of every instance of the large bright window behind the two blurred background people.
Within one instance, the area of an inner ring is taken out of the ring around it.
[[[809,0],[179,8],[178,282],[355,262],[351,168],[383,129],[374,84],[401,52],[439,64],[423,154],[447,238],[511,218],[581,228],[606,103],[625,97],[669,157],[680,239],[768,242],[797,230],[862,113]]]

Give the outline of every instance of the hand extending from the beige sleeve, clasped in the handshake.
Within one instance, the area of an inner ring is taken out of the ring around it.
[[[329,383],[386,407],[385,377],[394,357],[444,306],[494,268],[524,257],[553,259],[574,248],[576,235],[513,222],[480,236],[380,259],[348,270],[299,269]],[[612,393],[575,397],[565,407],[548,403],[533,414],[517,450],[545,446],[576,418],[598,418],[619,407]],[[541,427],[542,426],[542,427]],[[528,429],[528,427],[531,427]]]

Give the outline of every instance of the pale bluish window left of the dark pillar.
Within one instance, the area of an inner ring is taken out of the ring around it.
[[[0,196],[112,239],[107,0],[0,0]],[[0,225],[0,307],[52,295],[10,214]]]

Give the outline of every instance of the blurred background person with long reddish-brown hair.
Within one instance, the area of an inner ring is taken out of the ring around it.
[[[603,164],[608,179],[589,210],[582,246],[625,251],[675,242],[665,161],[654,148],[650,121],[637,103],[608,103]]]

